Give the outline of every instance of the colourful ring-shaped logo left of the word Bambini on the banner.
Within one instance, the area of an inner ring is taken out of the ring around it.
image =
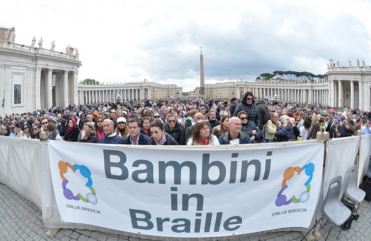
[[[91,172],[89,168],[87,168],[85,165],[78,165],[78,164],[71,165],[70,163],[64,162],[64,161],[58,162],[58,168],[59,168],[60,178],[62,179],[63,195],[65,198],[67,198],[68,200],[76,200],[76,201],[82,200],[83,202],[91,203],[93,205],[98,203],[98,198],[96,197],[95,190],[92,187],[93,180],[91,179]],[[85,186],[89,188],[91,193],[87,193],[86,197],[81,195],[80,192],[77,193],[77,195],[74,195],[73,192],[66,187],[68,184],[68,180],[64,177],[64,174],[67,173],[68,168],[71,169],[74,173],[76,173],[77,170],[80,170],[80,174],[87,179]]]

